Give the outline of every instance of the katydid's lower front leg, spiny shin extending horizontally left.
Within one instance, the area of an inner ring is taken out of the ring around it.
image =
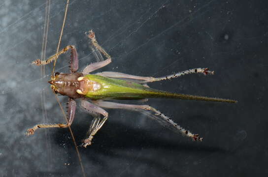
[[[66,128],[71,125],[76,109],[76,102],[73,99],[68,101],[68,122],[67,123],[50,123],[50,124],[37,124],[33,128],[27,130],[26,135],[33,135],[38,128]]]

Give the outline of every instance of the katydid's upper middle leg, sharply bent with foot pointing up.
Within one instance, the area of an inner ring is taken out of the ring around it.
[[[98,44],[98,42],[96,40],[95,33],[92,30],[90,30],[90,31],[86,32],[86,35],[91,39],[92,45],[96,48],[96,50],[100,51],[107,59],[104,61],[92,63],[92,64],[88,65],[87,67],[85,67],[83,72],[82,72],[84,75],[86,75],[94,70],[97,70],[103,66],[106,66],[107,64],[112,62],[111,56],[109,56],[109,54]]]

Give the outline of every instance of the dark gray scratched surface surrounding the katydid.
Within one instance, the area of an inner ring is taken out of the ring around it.
[[[108,110],[93,146],[79,148],[88,177],[267,176],[266,0],[70,0],[61,48],[77,47],[80,68],[94,62],[84,32],[94,29],[113,58],[104,71],[164,76],[209,67],[150,84],[156,89],[231,98],[237,104],[152,99],[148,104],[204,141],[192,142],[135,112]],[[24,133],[40,122],[64,122],[40,68],[45,0],[0,2],[0,176],[82,176],[67,129]],[[57,48],[65,2],[52,1],[47,56]],[[86,57],[89,55],[88,57]],[[67,57],[57,63],[67,66]],[[84,58],[86,57],[86,58]],[[64,67],[60,72],[66,72]],[[44,90],[48,119],[41,110]],[[62,102],[66,102],[61,97]],[[78,144],[92,117],[78,110]]]

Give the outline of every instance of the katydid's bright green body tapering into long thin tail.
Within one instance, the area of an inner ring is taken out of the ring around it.
[[[95,81],[101,85],[99,90],[88,91],[85,97],[90,99],[144,99],[144,98],[175,98],[186,100],[201,100],[201,101],[216,101],[216,102],[229,102],[236,103],[235,100],[211,98],[205,96],[195,96],[180,93],[170,93],[157,89],[151,89],[141,84],[129,82],[120,79],[112,79],[99,75],[86,75],[84,76],[91,81]]]

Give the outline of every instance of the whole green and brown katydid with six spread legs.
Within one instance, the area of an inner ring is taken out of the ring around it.
[[[128,109],[128,110],[145,110],[151,111],[157,115],[162,121],[166,122],[182,134],[192,138],[194,141],[202,141],[199,134],[193,134],[190,131],[182,128],[176,124],[173,120],[162,114],[160,111],[149,105],[134,105],[134,104],[122,104],[116,102],[110,102],[106,100],[139,100],[144,98],[175,98],[175,99],[187,99],[187,100],[201,100],[201,101],[215,101],[215,102],[227,102],[236,103],[237,101],[231,99],[211,98],[205,96],[195,96],[180,93],[171,93],[167,91],[151,89],[147,83],[162,81],[180,77],[186,74],[202,73],[204,75],[213,74],[213,71],[209,71],[207,68],[195,68],[186,71],[178,72],[176,74],[154,78],[154,77],[141,77],[128,75],[119,72],[100,72],[96,74],[89,74],[111,62],[111,57],[105,52],[105,50],[98,44],[95,33],[90,30],[86,33],[90,38],[92,45],[107,59],[104,61],[92,63],[86,66],[82,73],[76,72],[78,70],[78,54],[74,46],[67,46],[57,54],[51,56],[47,60],[35,60],[34,64],[45,65],[53,60],[57,59],[59,55],[71,50],[70,57],[70,73],[54,73],[54,68],[51,75],[51,89],[54,93],[68,96],[68,121],[64,123],[55,124],[37,124],[33,128],[28,129],[27,134],[33,135],[34,131],[38,128],[59,127],[66,128],[71,125],[75,109],[76,99],[81,99],[81,106],[91,115],[94,116],[92,120],[88,137],[83,141],[83,146],[86,148],[92,144],[94,135],[100,130],[102,125],[108,118],[108,113],[103,108],[108,109]],[[54,65],[55,67],[55,65]]]

